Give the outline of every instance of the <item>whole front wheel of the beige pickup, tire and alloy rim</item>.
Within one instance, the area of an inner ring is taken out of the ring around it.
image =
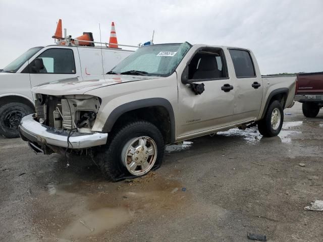
[[[142,176],[160,164],[165,144],[156,126],[137,121],[115,133],[104,149],[100,161],[103,175],[117,181],[127,176]]]

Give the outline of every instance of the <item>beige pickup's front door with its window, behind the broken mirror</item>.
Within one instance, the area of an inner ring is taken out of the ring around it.
[[[178,76],[178,139],[194,137],[198,133],[207,133],[233,124],[236,90],[234,80],[228,75],[224,50],[203,47],[187,65],[189,81],[203,83],[205,90],[196,95],[189,84],[181,82],[181,75]],[[223,88],[226,86],[233,89]]]

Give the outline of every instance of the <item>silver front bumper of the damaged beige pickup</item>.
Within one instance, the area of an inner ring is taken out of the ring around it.
[[[64,148],[68,147],[67,138],[70,131],[59,130],[39,124],[33,119],[32,115],[33,114],[29,114],[21,119],[19,131],[23,140],[36,142],[41,146],[48,144]],[[71,132],[69,148],[83,149],[104,145],[106,143],[106,139],[106,133],[87,134]]]

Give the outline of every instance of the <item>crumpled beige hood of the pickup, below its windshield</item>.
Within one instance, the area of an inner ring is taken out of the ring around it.
[[[53,96],[84,94],[87,91],[123,84],[127,82],[155,79],[159,77],[129,76],[129,75],[104,75],[103,79],[82,80],[82,78],[68,78],[53,82],[43,83],[32,88],[33,93],[42,93]]]

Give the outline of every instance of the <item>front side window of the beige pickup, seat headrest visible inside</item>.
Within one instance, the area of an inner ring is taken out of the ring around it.
[[[188,78],[198,80],[228,77],[223,68],[223,60],[221,49],[203,49],[197,52],[189,64]]]

